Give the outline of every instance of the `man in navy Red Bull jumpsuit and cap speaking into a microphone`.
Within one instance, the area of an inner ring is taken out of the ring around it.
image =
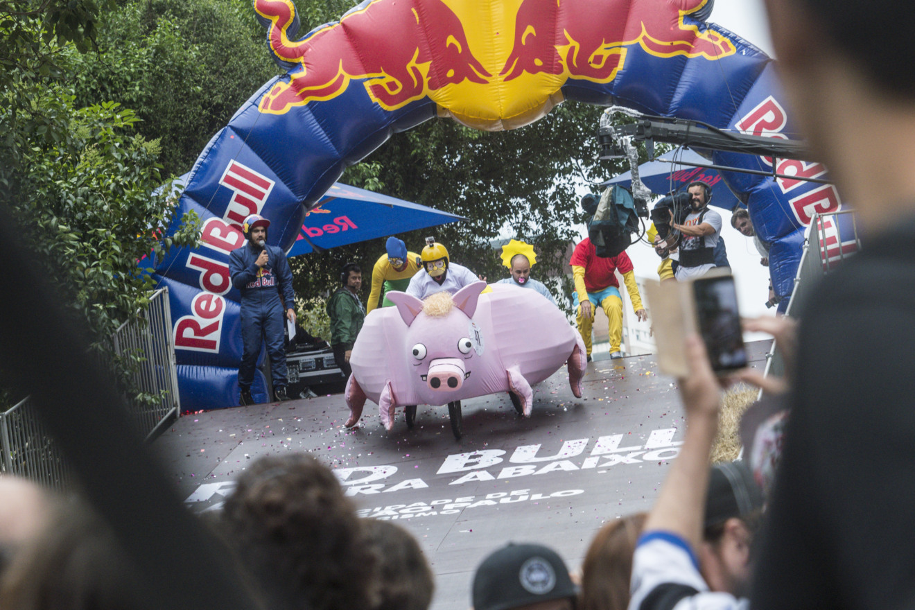
[[[242,293],[244,350],[242,364],[238,368],[242,405],[254,403],[251,384],[262,343],[266,344],[270,356],[274,398],[277,401],[289,400],[286,396],[283,310],[285,317],[296,324],[296,303],[292,291],[292,270],[285,253],[266,243],[269,226],[270,220],[257,214],[244,219],[242,232],[248,241],[229,255],[231,284]]]

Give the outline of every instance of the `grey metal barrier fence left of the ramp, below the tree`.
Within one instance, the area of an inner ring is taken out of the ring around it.
[[[132,376],[135,390],[154,397],[129,401],[131,419],[147,440],[181,413],[171,327],[168,289],[160,288],[150,296],[142,319],[125,322],[113,335],[118,356],[141,359]],[[0,412],[0,450],[3,473],[24,476],[50,488],[68,486],[70,468],[45,432],[30,398]]]

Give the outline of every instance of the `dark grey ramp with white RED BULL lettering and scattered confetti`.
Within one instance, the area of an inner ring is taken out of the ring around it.
[[[763,369],[768,341],[748,345]],[[343,428],[342,395],[192,413],[156,440],[188,508],[218,509],[263,455],[305,451],[333,468],[364,517],[412,531],[436,573],[434,610],[465,610],[479,562],[509,541],[553,547],[570,570],[600,526],[651,508],[683,438],[676,384],[651,356],[588,364],[576,399],[565,369],[534,387],[519,417],[507,394],[463,401],[456,441],[447,407],[403,412],[391,433],[366,401]]]

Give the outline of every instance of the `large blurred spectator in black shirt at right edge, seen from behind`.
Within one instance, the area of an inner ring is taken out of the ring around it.
[[[915,73],[898,67],[915,60],[915,21],[888,0],[766,5],[789,118],[855,202],[865,247],[801,311],[752,604],[911,607]]]

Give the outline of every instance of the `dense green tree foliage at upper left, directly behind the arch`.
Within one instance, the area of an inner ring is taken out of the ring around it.
[[[166,176],[187,172],[210,138],[278,71],[248,0],[142,0],[105,14],[98,52],[71,49],[77,105],[119,102],[159,139]]]

